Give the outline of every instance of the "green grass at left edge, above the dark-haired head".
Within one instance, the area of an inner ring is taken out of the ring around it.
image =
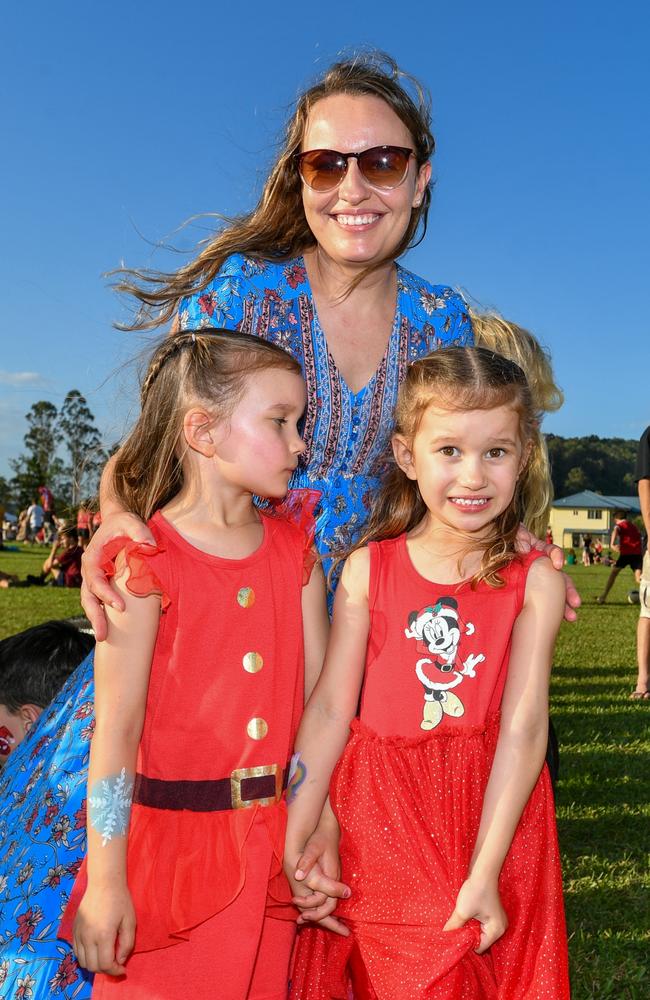
[[[24,580],[28,573],[38,575],[50,547],[6,542],[18,551],[0,550],[0,570]],[[38,625],[50,618],[72,618],[81,615],[78,590],[64,587],[0,588],[0,639]]]

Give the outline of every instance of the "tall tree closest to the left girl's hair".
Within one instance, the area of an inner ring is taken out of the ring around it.
[[[95,417],[78,389],[71,389],[66,395],[58,428],[69,461],[66,471],[70,503],[75,508],[97,492],[99,475],[106,461]]]

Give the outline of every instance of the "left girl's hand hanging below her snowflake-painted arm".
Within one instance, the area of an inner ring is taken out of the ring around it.
[[[135,910],[129,890],[90,887],[79,905],[72,931],[79,965],[89,972],[123,976],[135,941]]]

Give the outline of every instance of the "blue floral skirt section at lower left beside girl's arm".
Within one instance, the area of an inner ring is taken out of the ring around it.
[[[91,654],[0,774],[0,1000],[91,995],[57,932],[86,850],[92,665]]]

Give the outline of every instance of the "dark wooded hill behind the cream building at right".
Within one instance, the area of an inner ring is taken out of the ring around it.
[[[557,498],[582,490],[604,496],[635,496],[634,469],[638,440],[626,438],[565,438],[547,434],[553,489]]]

